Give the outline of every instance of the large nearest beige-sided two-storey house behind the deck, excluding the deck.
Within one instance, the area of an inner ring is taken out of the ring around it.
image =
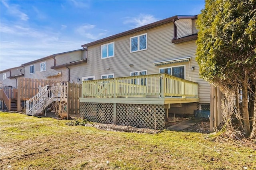
[[[200,108],[208,110],[210,85],[199,77],[199,66],[195,60],[198,32],[196,19],[197,16],[173,16],[84,44],[82,47],[87,49],[88,53],[87,63],[86,67],[74,68],[77,69],[76,76],[82,80],[92,80],[157,73],[174,75],[198,83],[198,96],[194,101],[172,101],[169,103],[169,113],[192,114]],[[84,91],[83,94],[87,95]],[[88,97],[80,101],[107,103],[105,99]],[[165,103],[168,104],[167,98]]]

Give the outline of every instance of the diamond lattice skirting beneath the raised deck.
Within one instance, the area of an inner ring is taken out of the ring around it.
[[[164,105],[80,103],[80,114],[88,121],[162,129]],[[115,109],[116,108],[116,109]]]

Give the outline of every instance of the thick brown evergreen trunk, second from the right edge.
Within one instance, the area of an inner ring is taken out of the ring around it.
[[[243,122],[244,122],[244,132],[245,136],[250,136],[250,121],[249,121],[249,111],[248,111],[248,91],[247,91],[247,79],[244,80],[242,85],[242,111],[243,111]]]

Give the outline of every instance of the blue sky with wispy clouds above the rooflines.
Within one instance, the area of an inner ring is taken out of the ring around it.
[[[202,8],[204,0],[0,0],[0,70]]]

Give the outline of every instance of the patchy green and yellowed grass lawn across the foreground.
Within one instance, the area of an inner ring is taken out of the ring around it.
[[[208,134],[106,131],[67,122],[0,112],[0,169],[256,169],[252,147],[211,142]]]

